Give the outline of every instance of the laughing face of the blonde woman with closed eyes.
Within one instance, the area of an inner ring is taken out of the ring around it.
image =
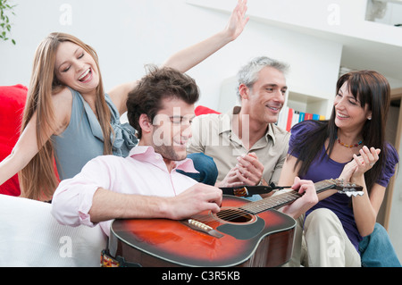
[[[54,73],[64,85],[81,94],[95,92],[99,84],[96,62],[81,46],[69,41],[57,47]]]

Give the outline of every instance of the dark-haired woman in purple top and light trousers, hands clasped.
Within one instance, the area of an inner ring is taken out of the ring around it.
[[[291,130],[280,184],[295,176],[314,182],[341,178],[363,186],[364,195],[319,195],[300,228],[309,266],[361,265],[359,242],[374,230],[398,163],[397,151],[385,141],[388,81],[376,71],[355,71],[339,78],[336,91],[329,121],[300,122]]]

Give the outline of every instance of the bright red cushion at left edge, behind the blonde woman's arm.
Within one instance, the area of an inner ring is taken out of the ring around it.
[[[0,161],[11,154],[20,137],[22,112],[28,88],[18,84],[0,87]],[[18,174],[0,185],[0,194],[20,196]]]

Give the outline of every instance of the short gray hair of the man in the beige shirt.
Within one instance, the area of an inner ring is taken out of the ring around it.
[[[240,68],[237,78],[238,78],[238,89],[237,93],[239,94],[239,87],[241,84],[247,86],[247,88],[253,88],[253,85],[256,80],[258,80],[258,73],[265,67],[269,66],[278,71],[281,71],[285,76],[289,72],[289,64],[282,63],[275,59],[269,58],[267,56],[258,56],[248,62],[245,66]]]

